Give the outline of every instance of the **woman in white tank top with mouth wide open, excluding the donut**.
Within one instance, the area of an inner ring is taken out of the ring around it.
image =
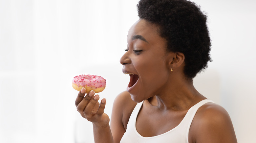
[[[120,59],[130,82],[115,99],[111,123],[94,91],[81,89],[75,102],[93,123],[95,142],[237,142],[225,109],[193,86],[211,60],[206,16],[185,0],[141,0],[137,7]]]

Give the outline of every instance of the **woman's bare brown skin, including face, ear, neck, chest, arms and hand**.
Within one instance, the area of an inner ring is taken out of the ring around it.
[[[129,92],[116,97],[111,123],[103,112],[105,99],[99,103],[97,95],[84,96],[81,89],[75,102],[81,116],[93,122],[95,142],[120,142],[138,102],[144,101],[136,129],[140,135],[149,137],[175,128],[190,107],[206,99],[183,73],[185,56],[166,52],[166,40],[160,37],[157,25],[143,19],[137,21],[128,32],[127,43],[120,59],[122,70],[137,74],[139,79]],[[189,130],[189,143],[205,142],[237,142],[228,113],[215,103],[198,109]]]

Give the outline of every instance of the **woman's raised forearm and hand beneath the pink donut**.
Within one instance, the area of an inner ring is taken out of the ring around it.
[[[90,91],[86,96],[84,95],[85,88],[82,88],[75,100],[75,106],[83,118],[93,123],[95,143],[114,143],[109,126],[110,119],[103,112],[106,100],[102,99],[99,103],[99,96],[94,95],[94,91]]]

